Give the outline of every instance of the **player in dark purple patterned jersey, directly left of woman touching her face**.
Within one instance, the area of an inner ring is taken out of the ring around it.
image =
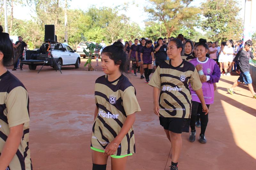
[[[152,41],[146,42],[146,45],[141,49],[140,52],[141,63],[143,64],[144,74],[146,78],[146,83],[149,82],[149,76],[152,73],[152,61],[154,58],[154,48],[152,47]]]

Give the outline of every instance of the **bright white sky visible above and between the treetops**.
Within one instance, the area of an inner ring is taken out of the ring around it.
[[[194,0],[191,5],[200,6],[202,2],[205,0]],[[133,3],[135,2],[135,4]],[[240,16],[243,18],[244,16],[244,0],[240,0],[240,7],[242,7],[242,10],[240,12]],[[87,10],[88,7],[95,5],[96,7],[102,7],[102,6],[108,6],[108,7],[114,7],[117,5],[122,5],[124,3],[129,3],[129,8],[127,11],[120,11],[120,13],[124,13],[126,16],[130,17],[131,21],[136,22],[141,28],[144,28],[144,20],[146,20],[147,13],[144,12],[144,6],[147,5],[146,0],[97,0],[97,1],[81,1],[81,0],[71,0],[69,5],[70,9],[81,9],[81,10]],[[15,10],[19,8],[19,10]],[[22,11],[22,12],[20,12]],[[21,7],[21,6],[14,6],[14,12],[13,15],[15,18],[18,19],[31,19],[31,15],[35,16],[33,14],[33,11],[29,9],[28,7]],[[256,16],[255,11],[254,15]],[[254,25],[256,25],[256,22],[254,22]],[[256,27],[256,26],[255,26]]]

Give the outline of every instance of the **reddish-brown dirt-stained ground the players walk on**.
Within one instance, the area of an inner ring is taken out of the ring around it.
[[[73,66],[62,73],[51,67],[12,71],[30,97],[30,149],[34,169],[92,169],[90,139],[93,122],[94,82],[104,73]],[[100,67],[97,68],[100,70]],[[141,112],[136,114],[136,154],[128,158],[127,170],[168,170],[170,142],[152,111],[152,87],[129,75],[137,91]],[[221,77],[215,103],[209,109],[206,144],[188,141],[183,133],[180,170],[253,170],[256,166],[256,99],[248,87],[227,93],[237,76]],[[197,129],[199,138],[200,129]],[[110,170],[110,162],[108,162]]]

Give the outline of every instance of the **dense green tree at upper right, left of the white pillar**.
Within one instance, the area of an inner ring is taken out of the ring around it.
[[[243,33],[242,19],[238,17],[241,10],[237,0],[207,0],[201,9],[206,18],[202,21],[202,28],[208,38],[226,41],[239,40]]]

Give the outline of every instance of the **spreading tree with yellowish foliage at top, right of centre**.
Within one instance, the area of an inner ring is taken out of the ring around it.
[[[166,28],[167,36],[178,29],[178,26],[192,28],[199,20],[199,9],[189,6],[193,0],[148,0],[144,8],[149,13],[148,20],[162,22]]]

